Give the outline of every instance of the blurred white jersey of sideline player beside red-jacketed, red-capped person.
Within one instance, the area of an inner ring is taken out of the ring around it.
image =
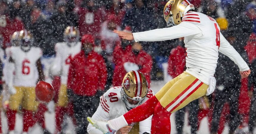
[[[67,84],[68,70],[71,59],[81,51],[81,42],[77,42],[74,46],[69,47],[65,42],[55,44],[56,58],[52,67],[54,75],[60,74],[61,84]]]

